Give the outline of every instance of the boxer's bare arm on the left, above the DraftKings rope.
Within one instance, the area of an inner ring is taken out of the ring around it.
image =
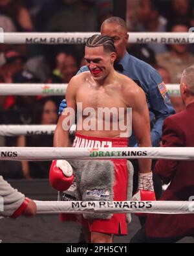
[[[74,76],[67,87],[66,101],[67,108],[59,116],[58,124],[54,132],[54,146],[66,147],[69,146],[69,129],[74,122],[76,112],[76,85],[78,78]],[[73,116],[74,115],[74,116]]]

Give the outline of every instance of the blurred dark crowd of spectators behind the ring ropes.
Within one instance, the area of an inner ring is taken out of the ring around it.
[[[99,32],[113,16],[113,1],[1,0],[0,27],[5,32]],[[129,32],[188,32],[194,27],[189,0],[127,0]],[[130,37],[130,34],[129,34]],[[155,67],[166,84],[178,84],[182,71],[194,64],[193,44],[132,44],[129,54]],[[0,44],[0,83],[68,83],[84,65],[84,45]],[[63,97],[0,95],[0,124],[56,124]],[[175,110],[184,109],[171,97]],[[52,146],[52,135],[1,137],[0,146]],[[5,178],[47,178],[49,162],[0,161]],[[13,171],[14,169],[14,171]]]

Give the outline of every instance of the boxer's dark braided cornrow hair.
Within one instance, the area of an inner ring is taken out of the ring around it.
[[[100,34],[94,34],[91,38],[88,38],[86,41],[87,47],[98,47],[103,46],[104,51],[106,52],[116,52],[114,47],[114,41],[109,36],[103,36]]]

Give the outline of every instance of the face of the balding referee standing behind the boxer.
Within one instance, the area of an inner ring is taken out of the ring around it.
[[[114,46],[116,48],[116,62],[120,61],[126,52],[129,35],[124,27],[115,23],[103,23],[101,27],[101,34],[113,38]]]

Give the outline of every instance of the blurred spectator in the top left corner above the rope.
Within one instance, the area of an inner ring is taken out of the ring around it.
[[[25,6],[19,0],[0,1],[0,20],[2,18],[5,19],[5,16],[10,19],[10,25],[9,27],[5,27],[5,30],[10,30],[11,27],[12,29],[16,29],[17,31],[22,32],[34,30],[32,20],[27,8],[25,8]]]

